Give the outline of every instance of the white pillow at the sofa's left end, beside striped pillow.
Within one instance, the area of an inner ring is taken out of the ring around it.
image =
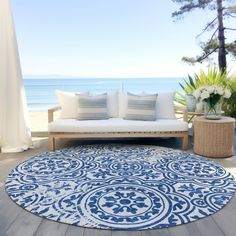
[[[61,119],[76,119],[78,117],[79,98],[76,94],[80,93],[56,90],[59,105],[61,106]],[[81,94],[88,94],[88,92]]]

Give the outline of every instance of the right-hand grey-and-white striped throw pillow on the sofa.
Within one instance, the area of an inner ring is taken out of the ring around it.
[[[139,96],[127,93],[127,100],[126,120],[156,120],[157,94]]]

